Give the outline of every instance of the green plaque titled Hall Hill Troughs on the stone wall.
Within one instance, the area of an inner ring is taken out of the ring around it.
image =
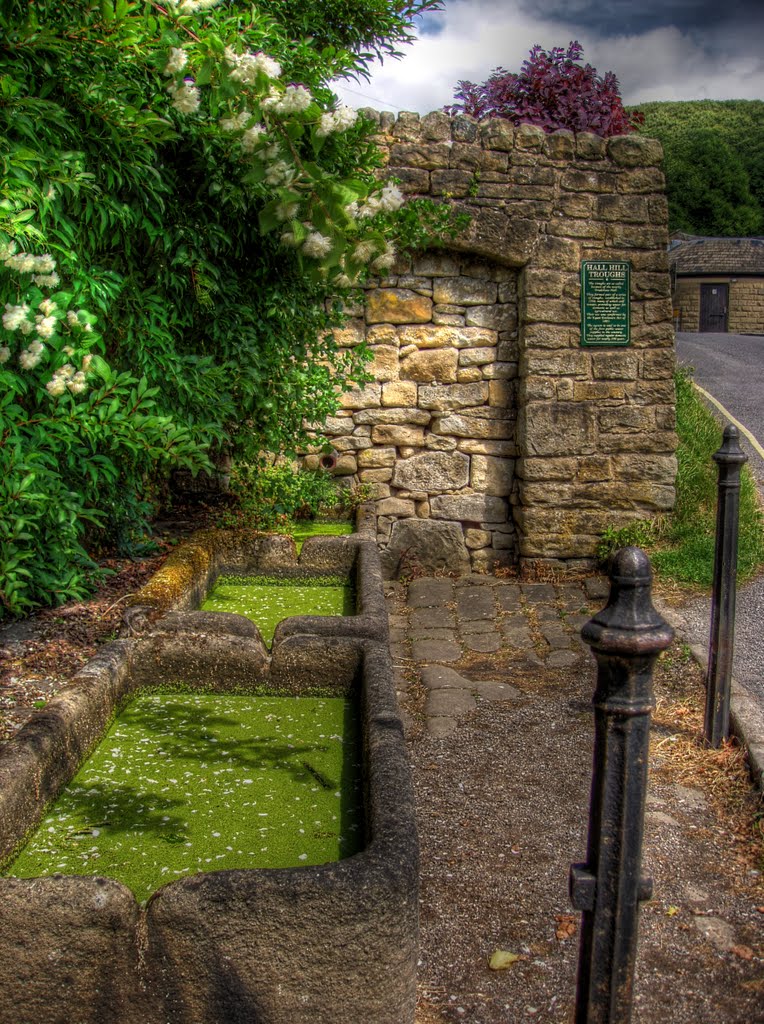
[[[589,259],[581,264],[581,344],[628,345],[631,263]]]

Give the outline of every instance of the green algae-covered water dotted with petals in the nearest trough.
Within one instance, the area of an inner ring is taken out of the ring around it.
[[[355,719],[341,697],[141,694],[4,873],[104,876],[145,900],[198,871],[351,856]]]

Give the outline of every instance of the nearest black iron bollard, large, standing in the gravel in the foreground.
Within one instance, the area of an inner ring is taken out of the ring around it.
[[[652,606],[651,579],[644,552],[622,549],[607,606],[581,633],[597,688],[587,861],[570,867],[570,899],[583,910],[576,1024],[628,1024],[638,904],[652,894],[641,876],[652,666],[674,631]]]

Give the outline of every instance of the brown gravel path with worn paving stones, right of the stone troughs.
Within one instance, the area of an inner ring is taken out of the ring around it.
[[[571,1019],[579,916],[567,871],[586,848],[594,688],[578,634],[602,593],[601,581],[487,577],[389,586],[422,846],[417,1024]],[[681,768],[705,756],[696,666],[681,644],[664,663],[644,848],[654,896],[641,913],[633,1020],[761,1024],[762,877],[711,781]],[[518,959],[492,971],[496,949]]]

